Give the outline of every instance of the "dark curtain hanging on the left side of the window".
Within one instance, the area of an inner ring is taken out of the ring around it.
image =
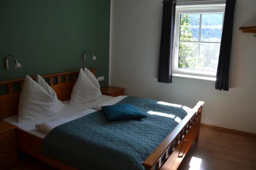
[[[162,32],[158,63],[158,82],[172,83],[174,23],[176,3],[163,1]]]

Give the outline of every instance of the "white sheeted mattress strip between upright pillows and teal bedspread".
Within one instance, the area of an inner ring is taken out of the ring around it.
[[[47,118],[42,118],[42,119],[38,119],[38,120],[35,120],[35,121],[26,122],[26,123],[18,123],[17,122],[17,115],[7,117],[3,120],[5,122],[8,122],[10,124],[13,124],[13,125],[17,126],[19,129],[22,129],[22,130],[24,130],[24,131],[26,131],[30,134],[33,134],[33,135],[38,136],[40,138],[45,138],[47,134],[37,130],[35,128],[35,125],[44,124],[46,122],[50,122],[51,120],[55,120],[55,119],[58,119],[60,117],[65,117],[65,116],[78,114],[83,110],[86,110],[88,108],[93,108],[97,105],[108,102],[110,99],[113,99],[113,97],[108,96],[108,95],[102,95],[99,99],[97,99],[93,102],[83,103],[83,104],[72,104],[72,105],[70,105],[69,101],[65,101],[65,102],[63,102],[63,104],[65,104],[65,107],[63,107],[58,113],[56,113],[52,116],[49,116]],[[92,109],[92,111],[88,112],[88,114],[91,113],[91,112],[94,112],[94,111],[97,111],[97,110]]]

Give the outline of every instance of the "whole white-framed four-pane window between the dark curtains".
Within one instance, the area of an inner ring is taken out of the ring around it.
[[[177,6],[174,76],[215,79],[225,5]]]

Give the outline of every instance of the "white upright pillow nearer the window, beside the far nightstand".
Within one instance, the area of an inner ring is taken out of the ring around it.
[[[71,93],[70,104],[92,102],[97,100],[102,95],[99,84],[97,85],[97,83],[93,80],[96,79],[95,76],[90,76],[90,74],[88,74],[90,77],[89,78],[87,74],[82,68],[80,69],[79,76]]]

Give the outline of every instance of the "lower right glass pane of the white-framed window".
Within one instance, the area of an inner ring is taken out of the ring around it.
[[[200,43],[199,69],[217,71],[220,43]]]

